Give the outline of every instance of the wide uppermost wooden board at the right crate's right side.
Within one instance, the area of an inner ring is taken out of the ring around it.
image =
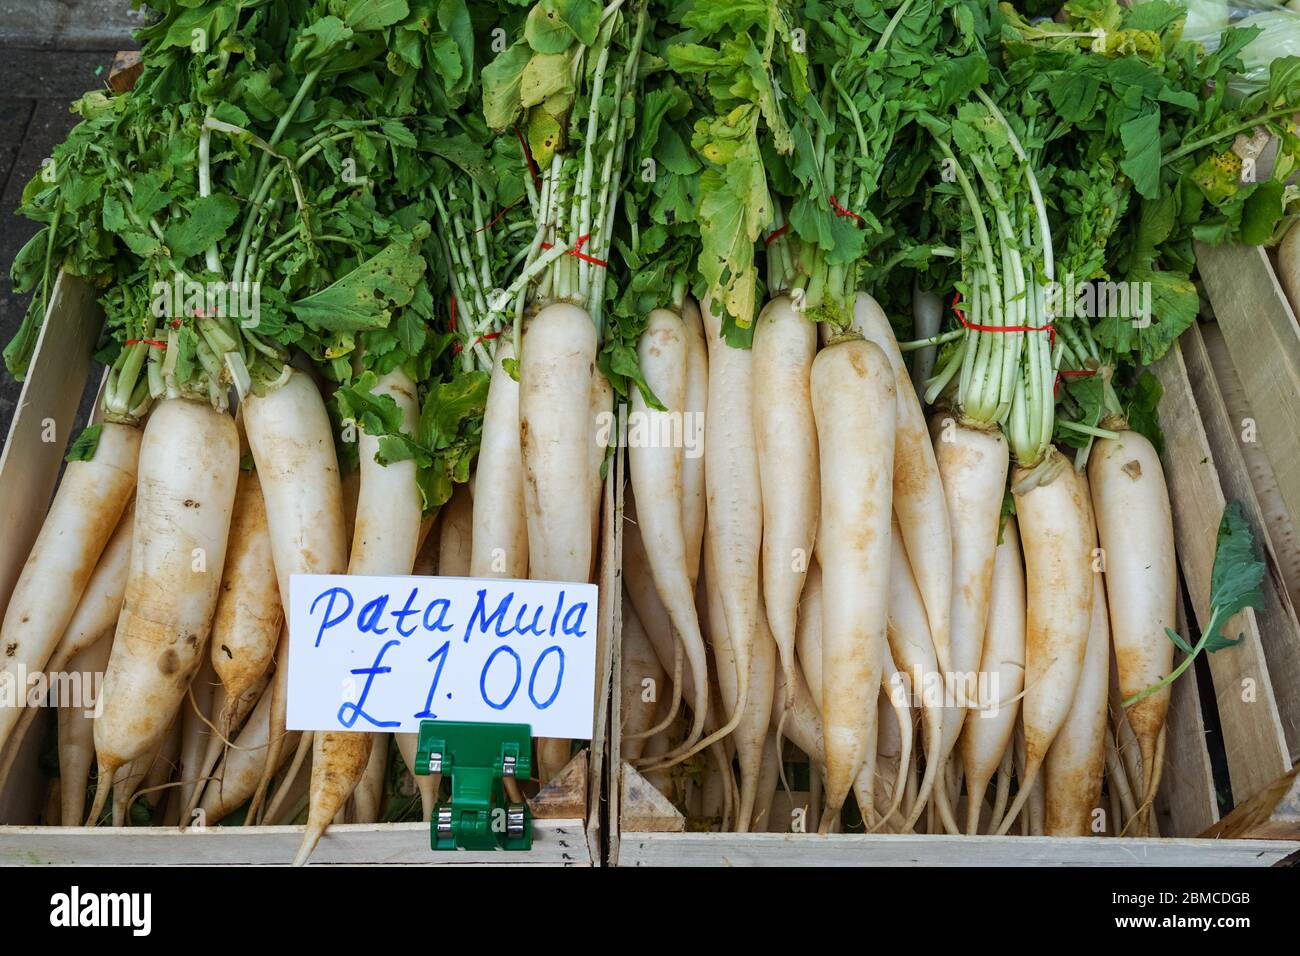
[[[1256,412],[1260,447],[1300,520],[1300,325],[1262,247],[1197,243],[1196,264]]]

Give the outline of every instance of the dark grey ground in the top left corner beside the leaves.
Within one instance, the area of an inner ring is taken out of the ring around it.
[[[36,232],[14,215],[22,189],[72,129],[68,105],[105,82],[142,22],[130,0],[0,0],[0,342],[27,307],[9,281],[14,254]],[[0,442],[20,389],[0,371]]]

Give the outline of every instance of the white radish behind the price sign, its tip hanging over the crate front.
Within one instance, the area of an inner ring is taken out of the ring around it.
[[[400,368],[380,376],[376,395],[389,395],[402,414],[402,431],[412,434],[420,416],[415,384]],[[361,488],[347,572],[352,575],[411,574],[419,550],[421,498],[416,466],[411,459],[381,464],[378,438],[360,436]],[[381,745],[387,737],[381,736]],[[374,745],[364,731],[320,731],[312,737],[311,803],[307,831],[294,865],[307,862],[334,816],[343,808],[365,774]]]

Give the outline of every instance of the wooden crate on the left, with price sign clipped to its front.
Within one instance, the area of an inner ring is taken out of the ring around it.
[[[0,614],[40,532],[62,457],[77,433],[77,410],[91,375],[101,313],[94,290],[60,274],[0,457]],[[615,506],[618,467],[611,468],[602,506],[601,606],[597,631],[597,713],[589,748],[530,800],[533,848],[528,852],[429,849],[428,823],[332,826],[315,864],[551,865],[592,866],[601,860],[601,780],[604,774],[610,675],[616,633],[619,574]],[[300,826],[173,827],[34,826],[44,795],[31,786],[47,722],[36,721],[5,792],[0,793],[0,864],[62,865],[240,865],[287,864],[302,840]]]

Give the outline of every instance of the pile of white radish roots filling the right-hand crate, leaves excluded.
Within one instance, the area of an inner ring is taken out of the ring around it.
[[[1121,704],[1174,650],[1150,442],[1017,468],[1009,516],[1005,438],[927,423],[871,297],[818,338],[788,297],[751,349],[707,300],[650,316],[641,433],[703,428],[629,441],[623,757],[701,829],[1154,832],[1170,691]],[[810,779],[789,813],[786,741]]]

